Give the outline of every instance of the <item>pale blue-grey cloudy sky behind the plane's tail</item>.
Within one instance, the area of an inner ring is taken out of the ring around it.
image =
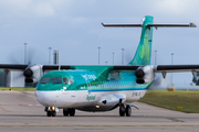
[[[142,29],[103,28],[104,23],[189,23],[199,26],[198,0],[0,0],[1,64],[24,63],[24,43],[32,64],[49,64],[49,47],[59,50],[60,64],[125,64],[134,56]],[[199,64],[199,28],[154,30],[151,64]],[[53,51],[51,52],[51,54]],[[30,57],[31,56],[31,57]],[[51,56],[52,58],[52,56]],[[52,61],[51,61],[52,63]],[[175,74],[174,82],[189,85],[192,76]]]

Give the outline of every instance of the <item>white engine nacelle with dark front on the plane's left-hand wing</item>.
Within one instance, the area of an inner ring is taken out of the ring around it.
[[[43,76],[42,65],[33,65],[28,67],[23,75],[25,77],[25,82],[34,84],[40,80],[40,78]]]

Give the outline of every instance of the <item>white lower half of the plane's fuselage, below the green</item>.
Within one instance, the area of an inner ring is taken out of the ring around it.
[[[106,111],[118,103],[118,98],[114,95],[124,95],[124,103],[132,103],[139,100],[146,90],[124,90],[124,91],[96,91],[71,90],[71,91],[39,91],[35,90],[38,101],[44,107],[75,108],[85,111]],[[101,100],[106,98],[107,103]]]

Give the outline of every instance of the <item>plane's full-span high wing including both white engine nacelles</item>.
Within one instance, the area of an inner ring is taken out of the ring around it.
[[[138,84],[149,82],[154,79],[154,73],[161,73],[166,77],[167,73],[199,72],[199,65],[11,65],[0,64],[0,69],[4,72],[21,70],[25,77],[25,82],[36,82],[44,72],[67,70],[67,69],[90,69],[97,72],[107,70],[132,70],[135,72]],[[103,70],[102,70],[103,69]]]

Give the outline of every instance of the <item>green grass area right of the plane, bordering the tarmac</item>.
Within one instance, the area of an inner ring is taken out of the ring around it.
[[[187,113],[199,113],[199,91],[148,90],[139,102]]]

